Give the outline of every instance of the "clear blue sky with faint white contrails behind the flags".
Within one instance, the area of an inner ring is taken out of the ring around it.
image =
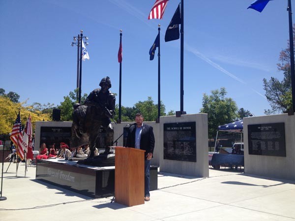
[[[180,39],[164,41],[180,0],[169,0],[162,20],[148,20],[155,0],[0,0],[0,87],[20,101],[54,103],[76,87],[73,36],[89,37],[90,59],[82,65],[82,94],[109,76],[119,90],[122,29],[122,106],[151,96],[157,103],[157,56],[148,51],[161,24],[161,100],[180,110]],[[184,111],[198,113],[203,94],[225,87],[238,108],[255,116],[270,106],[263,79],[283,78],[279,53],[289,39],[287,0],[270,1],[259,13],[253,0],[184,0]],[[295,5],[294,5],[295,7]],[[118,97],[117,101],[118,103]]]

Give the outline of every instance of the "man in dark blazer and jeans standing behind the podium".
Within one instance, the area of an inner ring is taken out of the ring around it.
[[[144,117],[141,113],[135,115],[135,124],[128,131],[127,147],[134,147],[145,150],[145,201],[149,201],[149,167],[152,158],[155,137],[151,126],[144,124]]]

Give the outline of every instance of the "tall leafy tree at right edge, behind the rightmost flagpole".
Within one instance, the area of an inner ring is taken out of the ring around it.
[[[295,36],[295,25],[293,26]],[[294,38],[295,39],[295,38]],[[293,39],[293,41],[294,41]],[[295,41],[294,41],[295,43]],[[271,110],[265,110],[266,114],[288,112],[292,107],[292,87],[291,87],[291,68],[290,68],[290,42],[288,47],[280,52],[280,63],[277,64],[279,71],[283,71],[284,78],[279,81],[271,77],[269,81],[263,79],[266,99],[271,106]]]

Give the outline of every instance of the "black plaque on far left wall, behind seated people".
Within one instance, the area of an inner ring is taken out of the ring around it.
[[[69,145],[71,133],[71,127],[41,127],[40,145],[41,143],[46,143],[47,148],[53,143],[58,147],[60,142]]]

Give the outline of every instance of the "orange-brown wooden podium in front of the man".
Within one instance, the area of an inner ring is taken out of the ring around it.
[[[116,147],[115,201],[126,206],[145,203],[145,151]]]

